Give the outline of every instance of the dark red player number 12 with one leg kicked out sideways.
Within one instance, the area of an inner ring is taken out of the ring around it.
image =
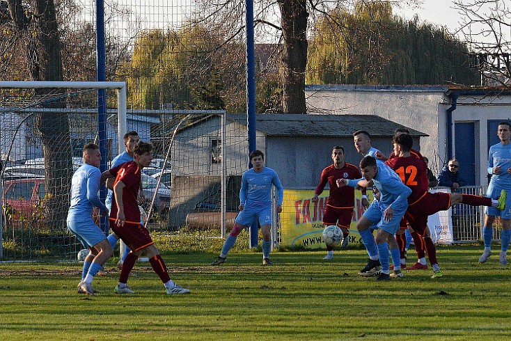
[[[437,251],[427,228],[427,216],[449,209],[449,207],[459,203],[472,206],[504,207],[505,198],[503,200],[494,200],[471,194],[428,192],[429,180],[427,180],[426,164],[423,159],[418,159],[410,154],[413,144],[414,141],[409,134],[394,136],[394,154],[398,155],[398,157],[389,159],[386,161],[386,164],[395,170],[402,182],[411,189],[405,217],[411,228],[418,232],[424,241],[427,257],[434,271],[432,278],[439,278],[442,276],[442,273],[437,261]]]

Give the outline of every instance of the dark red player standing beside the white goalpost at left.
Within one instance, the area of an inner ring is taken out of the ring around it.
[[[123,262],[119,283],[116,286],[118,294],[133,294],[127,286],[129,273],[142,252],[149,258],[152,269],[165,285],[167,294],[188,294],[190,290],[180,287],[168,276],[168,271],[162,256],[156,248],[149,231],[140,223],[140,209],[137,203],[139,187],[141,186],[141,170],[152,161],[152,145],[139,143],[134,151],[133,161],[125,162],[104,172],[108,177],[115,177],[113,182],[113,200],[110,210],[110,228],[122,239],[131,252]]]

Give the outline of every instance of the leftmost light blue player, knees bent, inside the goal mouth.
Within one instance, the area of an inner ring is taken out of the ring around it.
[[[101,152],[94,143],[84,146],[84,164],[81,165],[71,180],[71,205],[68,211],[68,229],[89,249],[84,260],[79,294],[93,296],[92,282],[104,262],[113,255],[107,236],[93,221],[93,207],[100,209],[100,214],[108,214],[107,207],[101,202],[97,193],[102,180],[100,168]]]

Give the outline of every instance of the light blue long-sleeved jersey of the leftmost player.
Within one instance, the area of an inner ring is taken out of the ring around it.
[[[71,180],[71,205],[68,215],[90,219],[93,207],[100,208],[101,213],[107,212],[107,207],[98,196],[100,182],[100,168],[90,164],[83,164],[74,172]]]

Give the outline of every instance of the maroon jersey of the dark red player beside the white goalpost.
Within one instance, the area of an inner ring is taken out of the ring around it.
[[[128,223],[140,224],[140,209],[136,198],[139,196],[139,187],[142,179],[141,170],[135,161],[128,161],[110,169],[111,175],[115,175],[117,182],[122,181],[126,187],[123,189],[124,216]],[[115,192],[110,209],[111,218],[117,218],[117,203]]]

